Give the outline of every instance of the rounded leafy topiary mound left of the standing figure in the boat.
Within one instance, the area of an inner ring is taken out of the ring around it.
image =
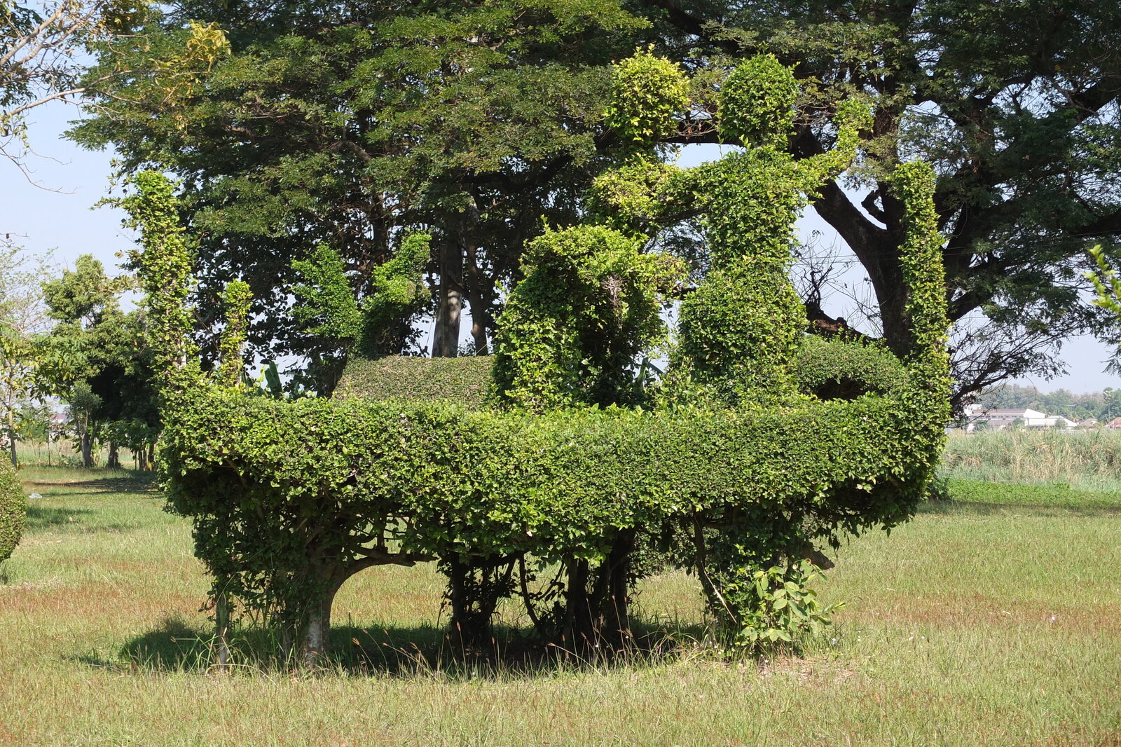
[[[537,412],[633,400],[631,363],[664,341],[659,302],[685,276],[642,243],[578,225],[528,245],[495,335],[499,400]]]

